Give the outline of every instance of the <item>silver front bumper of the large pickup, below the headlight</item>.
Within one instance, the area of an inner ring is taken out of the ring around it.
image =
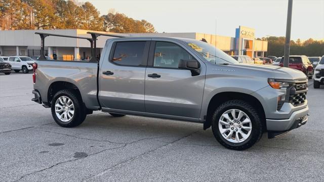
[[[266,119],[268,131],[289,131],[307,122],[308,106],[295,111],[288,119]]]

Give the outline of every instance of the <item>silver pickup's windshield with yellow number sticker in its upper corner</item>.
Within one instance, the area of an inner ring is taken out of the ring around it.
[[[238,63],[232,57],[228,56],[223,51],[215,48],[213,45],[203,42],[201,40],[185,40],[190,48],[195,50],[201,56],[205,58],[206,61],[213,64],[236,64]]]

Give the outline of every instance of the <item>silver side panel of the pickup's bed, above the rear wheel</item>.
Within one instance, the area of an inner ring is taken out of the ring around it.
[[[97,62],[89,61],[35,61],[37,63],[34,89],[48,103],[48,89],[58,81],[73,83],[79,88],[83,102],[87,108],[97,110]],[[55,81],[54,81],[55,79]]]

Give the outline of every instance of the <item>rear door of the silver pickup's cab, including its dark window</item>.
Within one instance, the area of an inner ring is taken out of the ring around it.
[[[145,111],[149,45],[149,40],[123,39],[113,42],[110,51],[106,50],[99,70],[99,101],[103,110]]]

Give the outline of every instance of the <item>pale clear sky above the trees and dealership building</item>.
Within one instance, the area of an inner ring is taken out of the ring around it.
[[[255,37],[285,36],[288,0],[88,0],[101,15],[110,9],[152,23],[157,32],[235,36],[239,25]],[[86,1],[79,0],[79,3]],[[324,0],[293,0],[291,39],[324,40]]]

